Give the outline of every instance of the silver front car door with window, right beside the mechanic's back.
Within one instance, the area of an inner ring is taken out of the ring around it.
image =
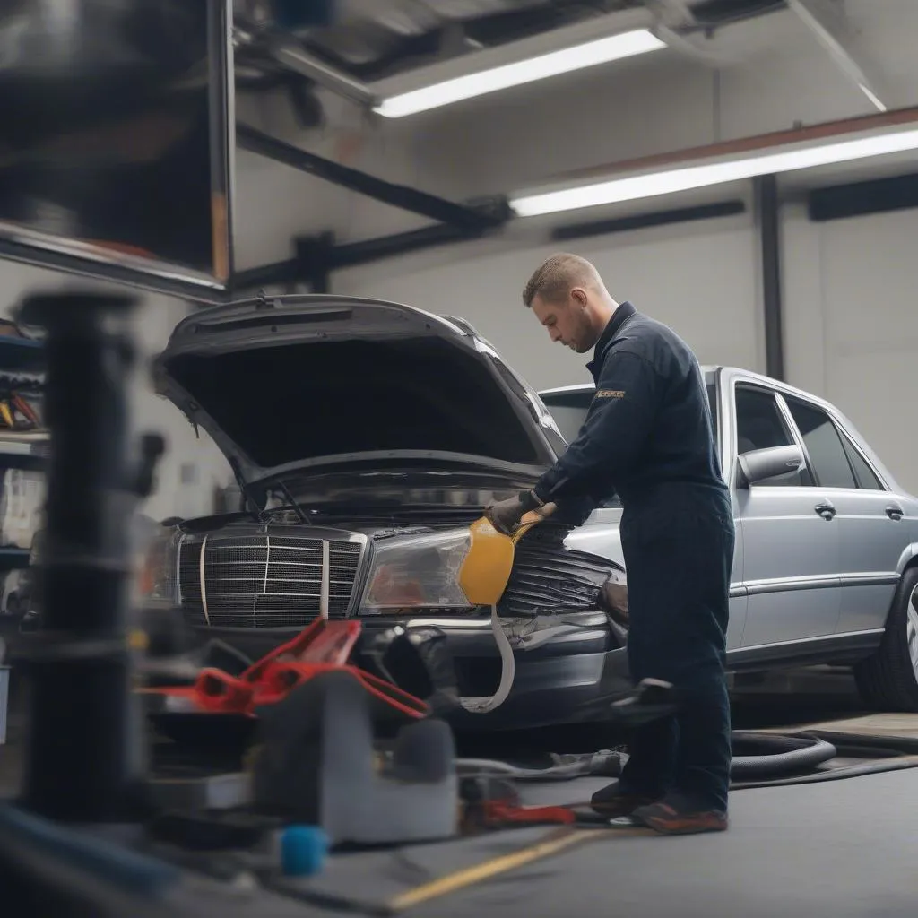
[[[778,392],[737,381],[737,453],[800,445]],[[806,466],[736,488],[743,532],[746,624],[742,646],[807,642],[834,634],[840,613],[838,521]]]

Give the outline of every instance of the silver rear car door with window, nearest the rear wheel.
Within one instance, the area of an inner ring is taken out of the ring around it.
[[[836,510],[841,538],[839,633],[884,626],[899,581],[897,566],[910,543],[901,500],[828,411],[786,397],[806,447],[812,474]]]

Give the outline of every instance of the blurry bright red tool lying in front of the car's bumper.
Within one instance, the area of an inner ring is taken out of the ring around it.
[[[346,670],[388,714],[420,720],[428,706],[391,682],[348,663],[360,637],[360,621],[316,619],[292,641],[275,648],[241,676],[221,669],[202,669],[191,686],[138,689],[160,696],[163,710],[174,713],[236,714],[257,716],[257,709],[284,700],[297,686],[330,670]]]

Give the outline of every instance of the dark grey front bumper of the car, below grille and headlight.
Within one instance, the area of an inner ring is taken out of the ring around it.
[[[363,619],[364,630],[354,662],[420,698],[452,687],[464,698],[491,696],[500,680],[500,654],[488,617],[438,618],[391,616]],[[603,612],[553,616],[546,625],[568,622],[571,633],[548,639],[532,650],[518,650],[516,674],[509,697],[495,711],[444,715],[457,729],[531,729],[560,723],[599,722],[608,710],[610,694],[630,688],[621,633]],[[292,638],[297,629],[220,629],[197,632],[199,640],[218,639],[252,659]],[[409,652],[406,642],[392,635],[423,635],[439,644],[436,664],[430,657]],[[374,648],[390,644],[382,660]]]

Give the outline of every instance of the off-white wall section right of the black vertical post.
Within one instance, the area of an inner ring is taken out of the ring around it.
[[[839,406],[918,493],[918,210],[786,221],[788,381]]]

